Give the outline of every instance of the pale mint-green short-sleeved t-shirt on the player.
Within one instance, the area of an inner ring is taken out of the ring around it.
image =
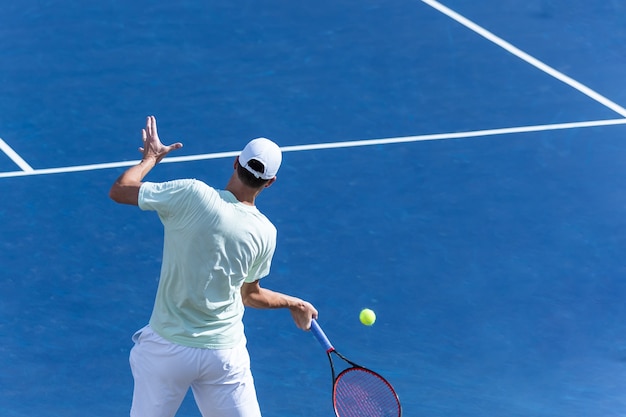
[[[150,326],[180,345],[229,349],[244,336],[240,288],[269,274],[276,228],[256,207],[197,180],[142,184],[164,226]]]

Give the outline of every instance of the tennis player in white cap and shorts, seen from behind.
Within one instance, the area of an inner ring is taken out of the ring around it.
[[[153,116],[142,136],[141,162],[110,190],[118,203],[156,211],[165,233],[152,315],[133,336],[130,415],[174,416],[191,387],[205,417],[259,417],[244,305],[287,308],[303,330],[317,317],[310,303],[259,284],[270,271],[276,228],[255,200],[276,181],[281,151],[265,138],[249,142],[224,190],[192,179],[151,183],[144,177],[182,144],[163,145]]]

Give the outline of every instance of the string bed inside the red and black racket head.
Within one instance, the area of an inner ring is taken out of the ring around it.
[[[339,417],[399,417],[400,403],[393,388],[380,375],[365,368],[350,368],[335,382],[335,410]]]

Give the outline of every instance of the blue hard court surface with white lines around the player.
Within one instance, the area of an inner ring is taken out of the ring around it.
[[[404,416],[626,415],[626,4],[442,1],[5,0],[1,414],[128,415],[162,228],[108,189],[154,114],[152,181],[284,147],[264,286]],[[333,415],[313,336],[245,324],[263,415]]]

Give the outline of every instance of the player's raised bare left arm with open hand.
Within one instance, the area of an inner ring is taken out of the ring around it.
[[[152,168],[154,168],[165,156],[175,149],[182,148],[182,143],[174,143],[165,146],[161,143],[156,128],[154,116],[148,116],[146,127],[142,130],[143,147],[139,148],[143,157],[137,165],[128,168],[113,183],[109,191],[109,197],[121,204],[137,205],[139,201],[139,188],[142,180]]]

